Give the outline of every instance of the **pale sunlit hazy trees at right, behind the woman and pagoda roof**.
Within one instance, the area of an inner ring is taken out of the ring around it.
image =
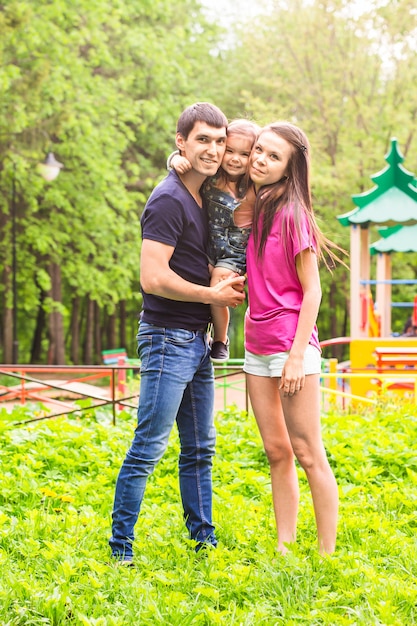
[[[345,0],[270,2],[218,55],[229,76],[220,106],[261,124],[288,119],[307,132],[315,211],[325,234],[346,249],[337,215],[352,208],[393,132],[410,150],[415,145],[416,13],[410,17],[406,0],[380,4],[359,14]],[[322,271],[323,338],[348,331],[348,282],[343,267]]]

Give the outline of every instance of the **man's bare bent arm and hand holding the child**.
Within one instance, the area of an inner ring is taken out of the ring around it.
[[[173,246],[151,239],[142,241],[140,282],[146,293],[178,302],[203,302],[216,306],[235,307],[245,300],[244,276],[233,276],[213,287],[190,283],[170,268],[173,252]]]

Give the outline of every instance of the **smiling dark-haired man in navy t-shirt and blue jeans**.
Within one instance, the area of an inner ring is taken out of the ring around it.
[[[211,484],[214,379],[206,331],[211,304],[236,307],[245,296],[241,276],[209,287],[208,223],[200,187],[220,166],[226,127],[224,114],[212,104],[183,111],[176,145],[192,168],[168,174],[152,192],[141,220],[138,425],[117,479],[109,542],[113,556],[125,565],[132,565],[133,529],[147,478],[166,450],[175,421],[189,536],[197,551],[217,543]]]

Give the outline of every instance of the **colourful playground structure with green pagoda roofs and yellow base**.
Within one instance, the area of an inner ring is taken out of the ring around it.
[[[403,377],[408,389],[416,369],[413,351],[415,336],[394,337],[391,332],[393,306],[411,309],[412,326],[417,331],[417,296],[413,302],[392,302],[392,285],[412,284],[417,280],[392,277],[392,257],[396,252],[417,252],[417,179],[402,166],[404,161],[395,138],[385,156],[386,167],[371,176],[375,186],[352,196],[356,208],[338,216],[350,227],[350,370],[352,373],[377,371],[378,349],[395,349],[396,357],[387,364],[392,375]],[[370,243],[371,227],[381,239]],[[376,279],[371,280],[371,260],[376,257]],[[375,288],[375,299],[371,286]],[[407,360],[404,363],[404,360]],[[379,372],[380,373],[380,372]],[[351,380],[354,394],[372,391],[371,379]],[[396,385],[401,390],[401,383]]]

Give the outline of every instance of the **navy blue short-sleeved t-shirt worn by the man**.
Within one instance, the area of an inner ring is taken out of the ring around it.
[[[172,170],[149,196],[142,218],[142,239],[174,246],[171,269],[189,282],[208,286],[208,218]],[[142,319],[155,326],[197,330],[210,320],[210,306],[178,302],[145,293]]]

